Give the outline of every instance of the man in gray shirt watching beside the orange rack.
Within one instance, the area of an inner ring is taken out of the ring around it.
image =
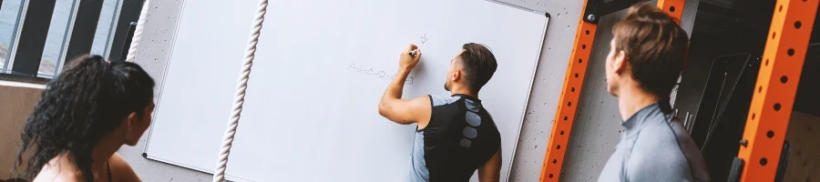
[[[618,97],[624,132],[599,181],[710,181],[692,137],[670,116],[689,46],[675,21],[641,4],[612,27],[607,91]]]

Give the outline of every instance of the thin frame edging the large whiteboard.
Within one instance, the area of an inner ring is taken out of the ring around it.
[[[168,58],[165,60],[165,65],[166,66],[165,66],[165,69],[162,72],[163,76],[162,76],[162,78],[160,78],[160,80],[162,80],[162,83],[160,84],[159,89],[157,91],[157,96],[156,96],[157,97],[157,103],[156,103],[157,107],[154,108],[154,111],[159,110],[159,107],[161,106],[159,103],[161,102],[162,91],[165,88],[165,84],[167,83],[166,78],[168,76],[168,71],[169,71],[169,67],[170,67],[169,63],[170,63],[171,59],[173,58],[174,48],[176,47],[176,44],[177,44],[177,35],[179,34],[179,25],[181,24],[180,20],[181,20],[182,15],[185,12],[185,7],[186,7],[188,1],[189,0],[182,0],[181,5],[179,6],[179,14],[177,15],[178,21],[174,25],[174,35],[173,35],[173,39],[171,41],[171,45],[170,45],[170,48],[169,48],[169,52],[168,52],[168,56],[167,56]],[[512,4],[508,4],[508,3],[497,1],[497,0],[484,0],[484,1],[496,3],[498,5],[505,5],[505,6],[512,7],[512,8],[517,8],[517,9],[520,9],[520,10],[523,10],[523,11],[528,11],[528,12],[538,14],[538,15],[545,15],[547,17],[544,20],[545,21],[544,22],[544,27],[541,30],[541,38],[540,38],[541,39],[541,44],[538,45],[538,50],[539,51],[537,53],[538,56],[536,56],[537,60],[534,62],[533,66],[532,66],[532,76],[530,76],[529,88],[527,90],[528,98],[524,102],[524,109],[521,111],[521,120],[519,121],[518,130],[517,130],[518,135],[516,135],[516,139],[514,140],[514,141],[516,141],[516,143],[513,144],[513,149],[511,151],[511,155],[509,157],[509,165],[507,167],[507,176],[503,178],[503,179],[505,179],[504,181],[508,181],[509,177],[512,173],[513,163],[515,162],[516,151],[518,150],[518,143],[519,143],[518,141],[521,137],[521,129],[524,126],[524,118],[527,116],[527,108],[529,106],[529,100],[532,96],[532,87],[535,84],[535,76],[536,76],[536,73],[538,72],[538,65],[541,61],[541,52],[543,52],[544,41],[546,41],[547,29],[548,29],[548,26],[549,26],[549,20],[551,19],[551,16],[547,12],[530,9],[530,8],[519,6],[519,5],[512,5]],[[156,118],[157,113],[158,112],[153,112],[151,114],[152,118]],[[148,149],[149,149],[149,146],[150,146],[149,145],[150,138],[151,138],[150,136],[153,133],[153,129],[154,129],[154,126],[150,126],[148,136],[146,137],[146,141],[145,141],[145,144],[144,144],[145,147],[143,147],[142,157],[145,157],[145,158],[150,159],[150,160],[158,161],[158,162],[161,162],[161,163],[177,166],[177,167],[189,168],[191,170],[200,171],[200,172],[210,174],[210,175],[214,174],[213,169],[205,169],[205,168],[200,168],[200,167],[191,167],[191,166],[188,166],[188,165],[185,165],[185,164],[172,162],[172,161],[164,159],[164,158],[150,156],[148,154]],[[228,181],[251,181],[249,179],[245,179],[245,178],[241,178],[241,177],[233,177],[233,176],[227,175],[227,174],[225,176],[225,179],[228,180]]]

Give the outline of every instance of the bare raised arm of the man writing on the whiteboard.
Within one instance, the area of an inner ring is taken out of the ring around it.
[[[428,122],[431,105],[428,96],[419,96],[415,99],[402,99],[402,91],[405,88],[405,79],[418,64],[419,58],[422,56],[421,51],[417,50],[415,56],[410,56],[410,51],[417,49],[415,45],[408,46],[404,52],[399,56],[399,70],[396,73],[395,79],[387,86],[384,91],[382,100],[379,101],[379,115],[384,116],[391,121],[409,125],[418,122],[419,127],[426,126]],[[426,119],[425,119],[426,118]]]

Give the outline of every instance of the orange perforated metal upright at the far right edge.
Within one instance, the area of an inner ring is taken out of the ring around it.
[[[738,157],[741,181],[774,181],[820,0],[779,0]],[[715,179],[719,180],[719,179]]]

